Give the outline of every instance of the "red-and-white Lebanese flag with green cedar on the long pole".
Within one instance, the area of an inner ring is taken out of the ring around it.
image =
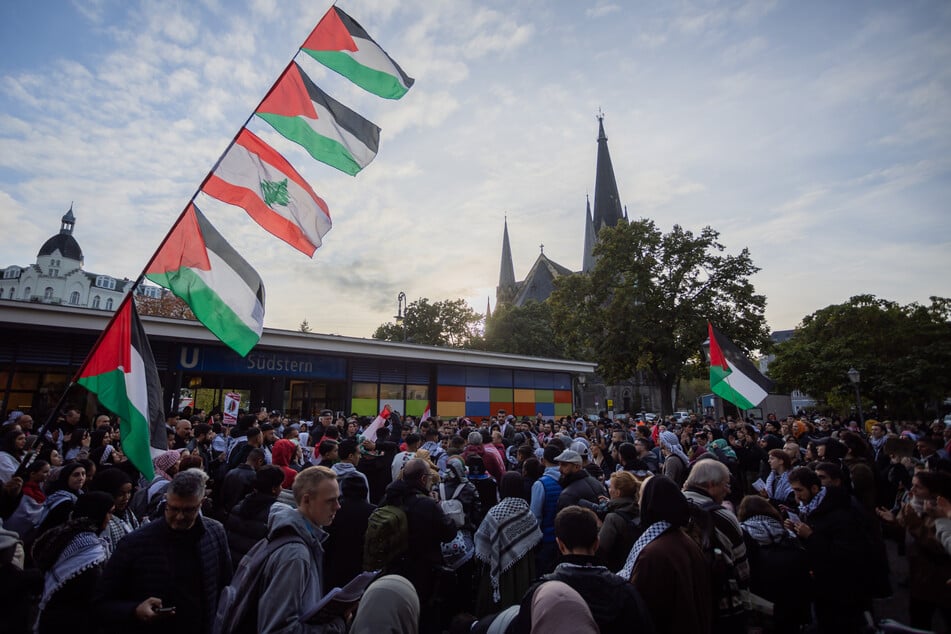
[[[332,224],[327,203],[304,177],[247,128],[202,191],[241,207],[266,231],[311,257]]]

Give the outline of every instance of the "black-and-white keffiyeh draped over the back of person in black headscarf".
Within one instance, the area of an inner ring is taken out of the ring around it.
[[[499,578],[542,540],[528,502],[505,498],[486,514],[475,534],[476,558],[489,566],[492,600],[502,600]]]

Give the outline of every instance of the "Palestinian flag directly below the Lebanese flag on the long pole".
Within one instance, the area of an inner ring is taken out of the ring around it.
[[[264,282],[194,204],[169,233],[145,276],[172,291],[242,357],[264,328]]]

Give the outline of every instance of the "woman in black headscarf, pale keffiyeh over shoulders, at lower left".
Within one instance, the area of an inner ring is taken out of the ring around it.
[[[66,523],[44,533],[34,544],[33,559],[44,572],[34,628],[37,634],[98,631],[89,604],[110,554],[99,533],[108,523],[112,507],[108,493],[87,493],[76,502]]]

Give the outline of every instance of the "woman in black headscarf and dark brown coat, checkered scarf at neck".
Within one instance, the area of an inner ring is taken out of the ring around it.
[[[682,530],[690,520],[687,498],[673,480],[654,476],[641,487],[640,506],[644,532],[618,574],[641,593],[659,634],[709,632],[710,573]]]

